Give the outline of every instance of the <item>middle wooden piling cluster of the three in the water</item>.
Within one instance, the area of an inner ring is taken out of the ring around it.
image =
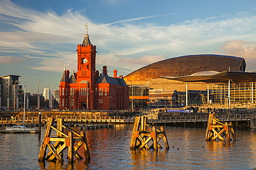
[[[130,149],[154,148],[157,150],[158,148],[163,148],[158,143],[162,138],[165,142],[165,148],[170,149],[164,127],[161,127],[161,129],[157,129],[156,127],[151,128],[147,125],[147,117],[135,117]]]

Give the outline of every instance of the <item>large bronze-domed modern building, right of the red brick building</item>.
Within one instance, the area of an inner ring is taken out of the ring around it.
[[[225,71],[245,72],[245,69],[246,61],[241,57],[197,54],[174,57],[146,65],[125,76],[124,80],[131,87],[129,99],[135,107],[185,105],[184,93],[186,91],[189,104],[217,103],[226,100],[223,99],[223,95],[217,97],[220,95],[216,89],[217,82],[190,81],[186,83],[175,78],[202,74],[205,71],[215,74]],[[171,78],[163,78],[167,76]],[[225,83],[223,85],[225,86]],[[210,94],[208,94],[208,89]]]

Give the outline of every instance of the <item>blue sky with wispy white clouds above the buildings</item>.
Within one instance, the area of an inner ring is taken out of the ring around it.
[[[109,76],[190,54],[243,57],[256,71],[255,0],[0,0],[0,76],[58,89],[64,65],[77,71],[86,24]]]

